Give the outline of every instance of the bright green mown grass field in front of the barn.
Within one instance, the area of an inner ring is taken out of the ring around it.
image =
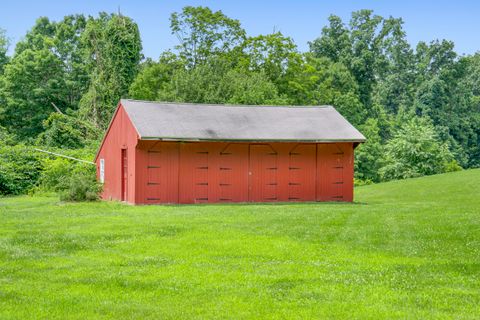
[[[354,204],[0,198],[0,319],[478,319],[480,170]]]

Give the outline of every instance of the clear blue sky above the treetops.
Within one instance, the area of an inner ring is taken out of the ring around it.
[[[0,28],[6,29],[14,45],[32,27],[39,16],[60,20],[72,13],[96,15],[99,11],[120,11],[139,25],[144,54],[157,58],[176,44],[170,34],[169,16],[186,5],[208,6],[239,19],[249,35],[280,30],[292,37],[299,49],[308,49],[327,23],[330,14],[348,21],[350,13],[373,9],[382,16],[402,17],[408,40],[448,39],[455,42],[460,54],[480,49],[480,1],[387,1],[387,0],[296,0],[296,1],[5,1],[0,4]],[[13,47],[12,45],[12,47]],[[13,48],[11,48],[13,49]],[[12,50],[10,50],[12,52]]]

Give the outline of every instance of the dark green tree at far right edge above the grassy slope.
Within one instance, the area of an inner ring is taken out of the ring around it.
[[[478,57],[458,59],[453,43],[444,40],[420,43],[417,60],[415,113],[433,120],[459,163],[479,166]]]

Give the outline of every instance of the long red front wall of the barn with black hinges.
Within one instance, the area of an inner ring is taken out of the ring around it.
[[[352,143],[139,141],[137,204],[353,201]]]

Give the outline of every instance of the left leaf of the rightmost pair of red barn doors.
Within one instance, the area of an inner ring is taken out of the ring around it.
[[[314,144],[299,144],[289,152],[288,200],[315,201]]]

